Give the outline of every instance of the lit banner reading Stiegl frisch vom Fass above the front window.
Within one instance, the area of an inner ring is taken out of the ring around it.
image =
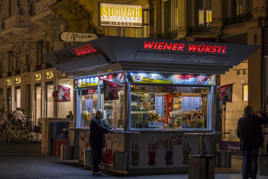
[[[215,75],[130,72],[133,82],[213,85]]]

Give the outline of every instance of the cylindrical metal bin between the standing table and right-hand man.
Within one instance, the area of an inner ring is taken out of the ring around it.
[[[217,167],[231,168],[231,150],[217,150]]]

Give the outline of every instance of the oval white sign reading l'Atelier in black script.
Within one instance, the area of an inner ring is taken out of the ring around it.
[[[62,32],[59,35],[62,42],[87,42],[97,38],[97,35],[93,33]]]

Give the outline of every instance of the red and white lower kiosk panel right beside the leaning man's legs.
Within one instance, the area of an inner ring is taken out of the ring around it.
[[[101,164],[113,165],[114,152],[124,151],[123,138],[123,134],[105,134],[106,146],[102,149]]]

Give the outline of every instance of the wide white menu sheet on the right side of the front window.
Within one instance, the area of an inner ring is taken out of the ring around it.
[[[181,94],[182,111],[201,111],[201,94]]]

